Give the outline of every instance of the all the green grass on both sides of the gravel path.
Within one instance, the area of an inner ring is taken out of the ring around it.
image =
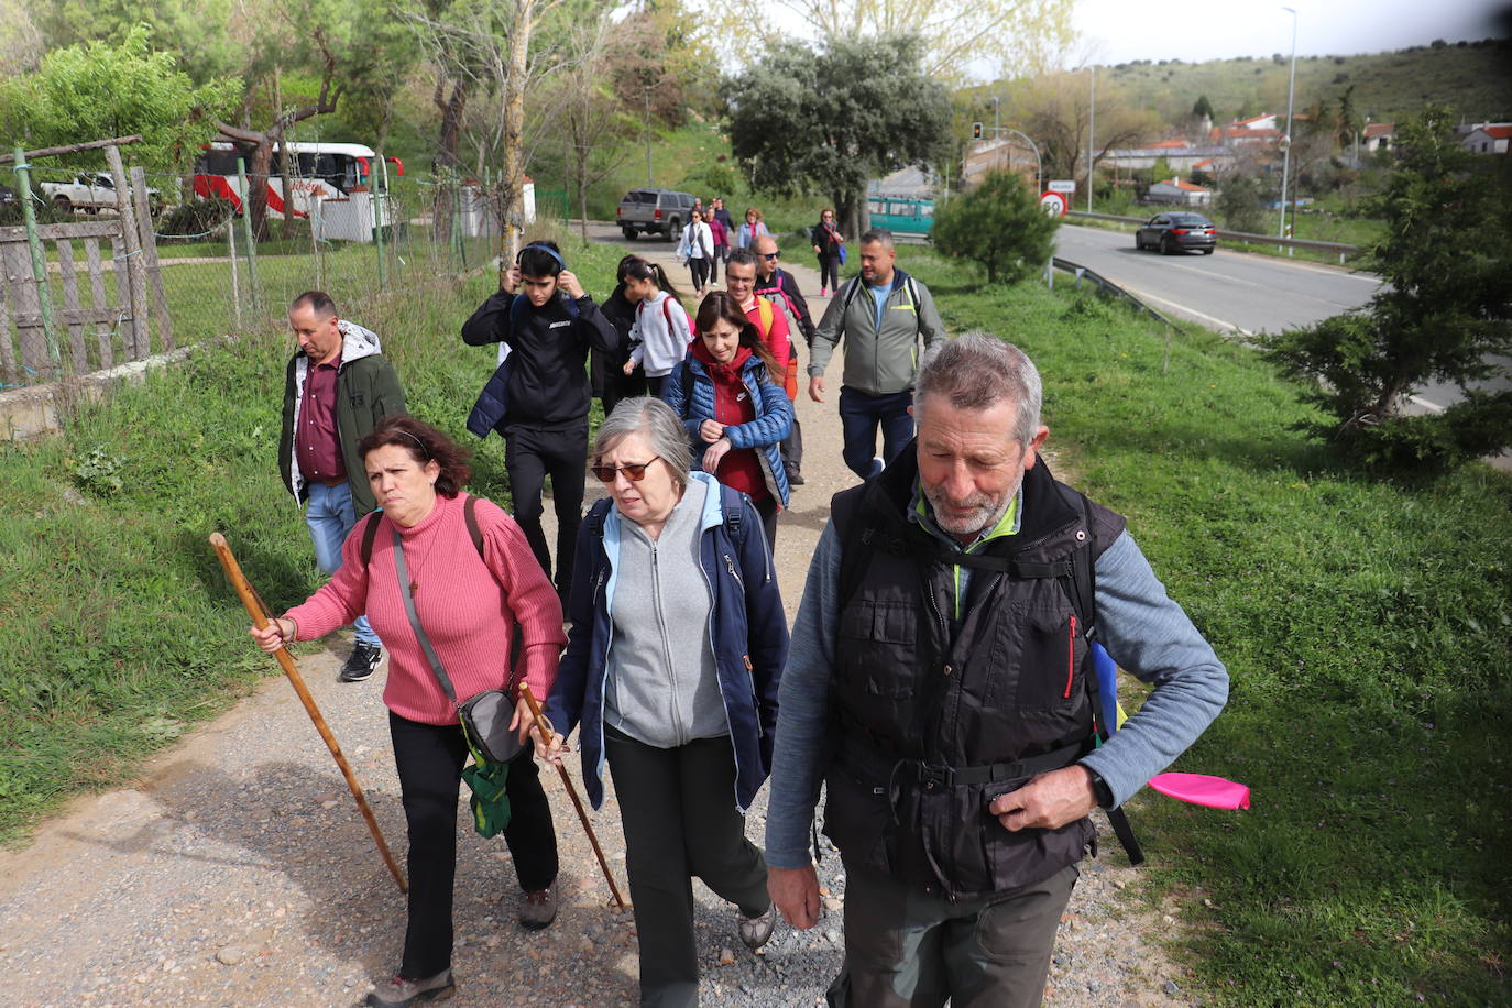
[[[602,295],[615,249],[564,240]],[[1151,899],[1193,893],[1173,938],[1182,988],[1225,1005],[1506,1003],[1507,478],[1367,479],[1291,429],[1311,413],[1244,348],[1090,293],[987,289],[928,249],[900,261],[954,329],[1039,361],[1058,465],[1129,517],[1232,674],[1178,769],[1247,783],[1253,809],[1148,793],[1132,809]],[[493,355],[457,328],[491,284],[482,271],[351,311],[384,335],[411,408],[469,444]],[[275,476],[289,351],[277,325],[207,348],[64,437],[0,452],[0,621],[17,629],[0,635],[0,836],[129,780],[269,673],[204,536],[227,532],[272,606],[318,582]],[[476,468],[507,502],[497,440]]]

